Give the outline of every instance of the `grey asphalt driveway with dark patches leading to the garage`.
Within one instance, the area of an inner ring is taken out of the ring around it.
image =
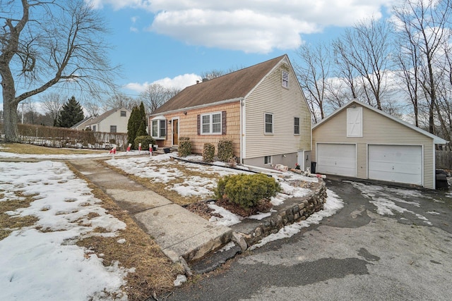
[[[345,203],[337,214],[167,300],[450,300],[451,193],[340,178],[327,187]]]

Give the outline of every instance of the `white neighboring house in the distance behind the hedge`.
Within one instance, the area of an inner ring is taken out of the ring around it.
[[[131,111],[124,107],[112,109],[100,116],[91,118],[85,123],[85,128],[90,128],[94,132],[127,133],[130,113]]]

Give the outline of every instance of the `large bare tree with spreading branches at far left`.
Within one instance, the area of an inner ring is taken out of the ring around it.
[[[6,141],[18,141],[18,104],[49,87],[112,89],[102,18],[83,0],[1,1],[0,75]],[[18,86],[18,90],[16,90]]]

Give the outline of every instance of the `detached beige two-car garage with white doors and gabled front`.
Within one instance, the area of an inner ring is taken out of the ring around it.
[[[316,172],[435,188],[435,145],[446,140],[352,100],[312,128]]]

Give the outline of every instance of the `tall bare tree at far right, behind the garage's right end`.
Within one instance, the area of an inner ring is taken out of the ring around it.
[[[428,103],[429,132],[435,132],[437,106],[437,83],[435,65],[440,59],[441,47],[448,42],[451,18],[450,0],[407,0],[403,6],[394,8],[395,16],[403,29],[401,39],[410,44],[420,56],[417,82]]]

